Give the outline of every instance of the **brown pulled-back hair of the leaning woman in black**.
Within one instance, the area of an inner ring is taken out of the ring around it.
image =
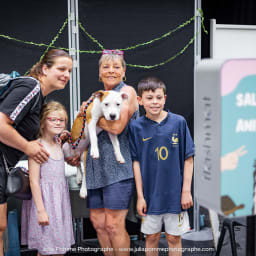
[[[71,58],[71,56],[63,51],[63,50],[60,50],[60,49],[52,49],[52,50],[49,50],[43,57],[43,59],[39,62],[37,62],[30,70],[29,72],[29,76],[32,76],[36,79],[39,79],[39,77],[43,74],[43,71],[42,71],[42,67],[43,65],[46,65],[48,68],[51,68],[55,62],[55,59],[58,58],[58,57],[67,57],[67,58]]]

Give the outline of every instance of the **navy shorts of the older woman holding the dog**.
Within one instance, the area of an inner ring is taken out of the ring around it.
[[[103,188],[88,189],[87,207],[90,209],[128,209],[134,190],[134,179],[122,180]]]

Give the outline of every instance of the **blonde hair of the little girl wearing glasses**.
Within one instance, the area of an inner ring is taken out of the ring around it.
[[[38,137],[42,137],[42,135],[43,135],[43,125],[46,121],[47,116],[53,111],[63,111],[64,116],[65,116],[65,126],[67,125],[67,123],[68,123],[68,114],[67,114],[67,110],[64,107],[64,105],[62,105],[58,101],[49,101],[48,103],[43,105],[42,110],[41,110],[40,129],[39,129]]]

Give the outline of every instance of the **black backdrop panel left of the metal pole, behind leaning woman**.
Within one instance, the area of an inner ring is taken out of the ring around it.
[[[0,34],[24,41],[49,44],[57,34],[67,13],[65,0],[8,0],[1,1]],[[56,42],[68,47],[68,27]],[[25,74],[41,57],[46,47],[26,45],[0,38],[0,73],[12,70]],[[69,87],[52,93],[49,98],[61,101],[69,113]]]

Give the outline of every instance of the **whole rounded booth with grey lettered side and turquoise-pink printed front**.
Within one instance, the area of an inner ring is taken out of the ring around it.
[[[226,216],[256,214],[256,59],[203,60],[195,85],[195,196]]]

